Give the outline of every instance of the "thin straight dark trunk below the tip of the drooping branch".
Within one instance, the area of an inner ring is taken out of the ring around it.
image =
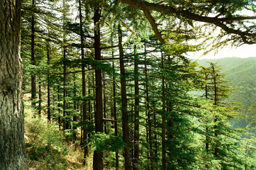
[[[162,69],[164,69],[164,56],[162,55]],[[165,77],[162,76],[162,170],[166,169],[166,149],[165,149]]]

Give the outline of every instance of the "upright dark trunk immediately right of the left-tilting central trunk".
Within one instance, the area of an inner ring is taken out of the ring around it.
[[[134,47],[134,55],[135,55],[135,62],[134,62],[134,84],[135,84],[135,113],[134,113],[134,159],[133,159],[133,169],[138,170],[138,159],[139,159],[139,117],[140,117],[140,111],[139,111],[139,81],[138,81],[138,55],[137,55],[137,47]]]

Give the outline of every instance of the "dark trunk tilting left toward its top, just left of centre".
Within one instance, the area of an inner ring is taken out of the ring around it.
[[[121,100],[122,100],[122,129],[123,129],[123,142],[126,142],[124,147],[124,166],[126,170],[130,170],[130,139],[129,139],[129,126],[128,126],[128,113],[127,113],[127,96],[126,96],[126,75],[123,62],[123,45],[122,45],[122,30],[118,24],[118,47],[120,57],[120,74],[121,74]]]

